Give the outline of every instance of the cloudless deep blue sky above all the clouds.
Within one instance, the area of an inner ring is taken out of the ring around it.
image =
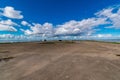
[[[93,17],[97,11],[119,3],[120,0],[0,0],[0,7],[21,10],[28,21],[61,24]]]

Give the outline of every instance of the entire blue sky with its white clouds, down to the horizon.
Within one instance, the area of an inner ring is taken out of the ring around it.
[[[119,38],[120,0],[0,0],[0,39]]]

